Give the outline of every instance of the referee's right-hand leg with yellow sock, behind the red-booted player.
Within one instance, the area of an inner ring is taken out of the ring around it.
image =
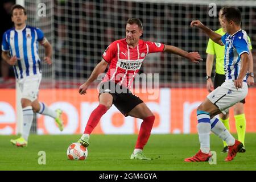
[[[246,131],[246,119],[243,104],[245,100],[238,102],[234,105],[234,118],[236,120],[237,137],[243,146],[245,146],[245,131]],[[245,152],[245,147],[240,152]]]

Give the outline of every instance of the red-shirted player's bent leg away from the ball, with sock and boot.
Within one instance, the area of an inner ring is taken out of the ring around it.
[[[150,133],[155,121],[155,116],[144,102],[135,106],[127,115],[143,119],[133,154],[130,159],[151,160],[143,155],[142,150],[150,138]]]

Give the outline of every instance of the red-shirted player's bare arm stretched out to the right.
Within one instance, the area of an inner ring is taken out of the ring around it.
[[[199,63],[199,61],[203,61],[203,59],[201,59],[201,56],[198,52],[187,52],[175,46],[164,45],[164,52],[175,53],[176,55],[179,55],[191,60],[193,63]]]

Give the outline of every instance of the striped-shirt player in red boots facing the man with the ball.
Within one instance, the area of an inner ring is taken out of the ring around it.
[[[246,73],[249,70],[249,44],[247,34],[241,29],[241,12],[234,7],[222,8],[222,28],[226,32],[221,36],[204,26],[199,20],[193,20],[191,27],[199,27],[213,42],[225,46],[224,68],[225,82],[209,93],[197,108],[197,130],[200,150],[185,162],[204,162],[209,160],[210,131],[228,144],[228,156],[225,161],[233,160],[243,144],[236,140],[215,115],[228,111],[229,107],[243,100],[248,93]]]

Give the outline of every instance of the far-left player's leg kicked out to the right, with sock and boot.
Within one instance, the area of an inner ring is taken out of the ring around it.
[[[55,122],[57,123],[60,131],[63,131],[63,121],[61,119],[62,110],[52,110],[43,102],[39,102],[38,99],[32,102],[32,108],[35,113],[48,115],[49,117],[55,119]]]

